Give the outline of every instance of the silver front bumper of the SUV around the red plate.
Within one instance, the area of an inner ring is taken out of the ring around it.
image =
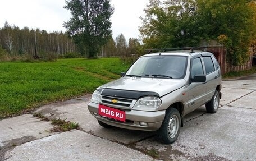
[[[90,102],[88,109],[90,113],[99,121],[102,121],[108,125],[116,126],[120,128],[126,128],[130,130],[143,130],[143,131],[156,131],[163,122],[165,111],[137,111],[130,110],[125,111],[126,122],[116,121],[114,119],[99,116],[97,103]]]

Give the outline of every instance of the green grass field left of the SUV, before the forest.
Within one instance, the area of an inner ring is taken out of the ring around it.
[[[0,119],[40,105],[92,93],[129,65],[119,58],[0,63]]]

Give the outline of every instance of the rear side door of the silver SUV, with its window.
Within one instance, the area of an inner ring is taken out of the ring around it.
[[[217,66],[214,65],[213,59],[214,57],[212,55],[203,56],[203,63],[205,66],[207,82],[205,102],[208,102],[208,100],[212,99],[212,96],[217,87],[216,82],[218,81],[216,81],[216,79],[218,79],[221,76],[220,70],[217,70]]]

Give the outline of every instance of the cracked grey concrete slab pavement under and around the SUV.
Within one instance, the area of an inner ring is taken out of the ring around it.
[[[0,160],[256,160],[255,76],[223,81],[218,112],[201,107],[185,116],[171,145],[159,143],[155,132],[99,126],[86,95],[35,111],[75,121],[80,130],[50,132],[51,123],[32,114],[0,121]]]

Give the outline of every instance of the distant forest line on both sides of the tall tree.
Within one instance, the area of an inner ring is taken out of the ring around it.
[[[133,61],[143,54],[139,39],[129,38],[127,43],[121,33],[114,40],[109,37],[107,43],[97,52],[97,57],[121,57],[122,61]],[[86,57],[71,36],[62,31],[47,33],[45,30],[29,29],[10,25],[8,22],[0,28],[0,60],[20,59],[54,59]]]

